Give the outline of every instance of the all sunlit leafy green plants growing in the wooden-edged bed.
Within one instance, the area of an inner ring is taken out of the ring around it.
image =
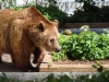
[[[62,51],[53,54],[53,58],[57,60],[62,59],[61,56],[63,55],[66,55],[70,59],[78,60],[101,60],[109,58],[109,34],[84,31],[78,35],[72,34],[69,38],[65,38],[65,35],[63,38],[62,36],[60,37],[62,42],[59,42],[62,46]]]

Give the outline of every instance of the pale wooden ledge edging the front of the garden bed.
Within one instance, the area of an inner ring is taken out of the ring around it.
[[[109,69],[109,65],[102,65]],[[39,67],[40,72],[97,72],[97,69],[92,65],[55,65],[52,63],[52,56],[46,55],[43,63]]]

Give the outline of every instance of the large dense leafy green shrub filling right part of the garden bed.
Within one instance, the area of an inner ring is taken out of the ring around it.
[[[109,58],[109,37],[107,34],[85,31],[70,38],[70,52],[74,59],[100,60]],[[72,45],[73,44],[73,45]]]

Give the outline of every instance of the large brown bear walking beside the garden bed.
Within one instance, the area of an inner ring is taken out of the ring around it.
[[[35,60],[39,62],[46,51],[61,49],[58,43],[58,24],[57,20],[51,22],[45,19],[34,7],[20,11],[0,10],[0,56],[10,54],[12,63],[28,69],[32,67],[31,54],[36,54]]]

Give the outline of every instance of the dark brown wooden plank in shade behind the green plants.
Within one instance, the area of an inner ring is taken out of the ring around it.
[[[109,27],[109,23],[65,23],[65,28],[80,28],[83,25],[89,25],[89,28]]]

